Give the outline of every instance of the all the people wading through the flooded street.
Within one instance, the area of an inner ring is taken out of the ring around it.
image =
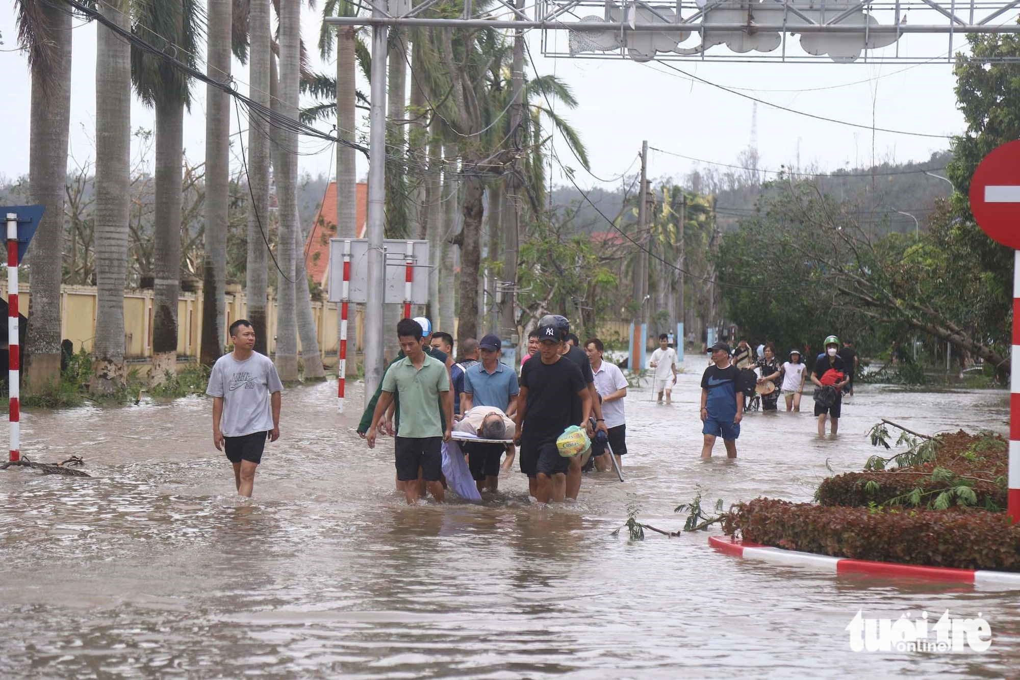
[[[519,373],[501,361],[496,334],[466,338],[457,348],[449,333],[434,332],[425,317],[402,319],[394,331],[400,352],[387,367],[357,432],[374,449],[380,434],[394,440],[396,488],[414,505],[430,493],[445,500],[448,476],[464,469],[482,491],[496,493],[501,473],[518,460],[528,492],[540,503],[576,500],[585,471],[612,469],[622,479],[627,454],[625,401],[628,382],[605,358],[598,337],[583,345],[564,316],[542,317],[527,338]],[[279,437],[283,384],[272,362],[254,351],[255,331],[239,319],[231,325],[234,351],[213,367],[206,394],[213,398],[213,444],[234,468],[238,493],[250,496],[266,441]],[[652,393],[672,403],[682,372],[666,334],[652,354]],[[752,347],[708,348],[701,380],[702,458],[722,437],[736,457],[745,411],[798,412],[806,386],[813,388],[818,435],[826,421],[838,430],[844,395],[854,394],[859,360],[853,344],[827,336],[808,367],[795,348],[780,356],[771,342]],[[466,464],[466,465],[465,465]],[[463,487],[461,487],[463,489]],[[469,492],[474,489],[469,489]]]

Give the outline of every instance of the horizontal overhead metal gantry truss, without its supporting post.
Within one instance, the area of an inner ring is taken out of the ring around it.
[[[458,18],[426,16],[440,0],[425,0],[401,14],[382,9],[379,2],[385,0],[359,1],[371,9],[371,16],[335,16],[325,21],[359,27],[538,30],[542,32],[542,52],[548,57],[832,60],[825,53],[795,49],[787,44],[790,37],[800,36],[802,45],[805,37],[811,37],[815,46],[823,38],[857,41],[863,62],[952,61],[955,51],[964,45],[962,36],[1020,33],[1020,0],[537,0],[524,8],[496,0],[482,12],[473,11],[471,0],[463,0],[464,10]],[[567,32],[568,38],[586,39],[590,44],[570,45],[568,39],[561,48],[556,36],[562,32]],[[945,48],[932,49],[936,43],[926,41],[924,45],[911,45],[910,54],[903,53],[900,39],[914,34],[945,36]],[[633,46],[642,39],[656,43],[651,53]]]

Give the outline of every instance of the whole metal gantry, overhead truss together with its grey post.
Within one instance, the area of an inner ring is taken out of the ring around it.
[[[449,0],[447,0],[449,1]],[[475,10],[463,0],[460,17],[428,16],[443,0],[351,0],[356,16],[330,16],[333,25],[371,27],[371,109],[368,166],[368,302],[365,309],[365,401],[382,379],[382,254],[386,176],[387,39],[391,28],[497,29],[542,32],[552,58],[634,61],[952,62],[961,34],[1016,34],[1020,0],[495,0]],[[558,35],[566,32],[566,49]],[[914,34],[946,36],[918,41]],[[796,37],[799,43],[790,43]],[[996,61],[1020,61],[1006,56]],[[991,61],[990,59],[988,61]],[[517,75],[515,73],[515,75]]]

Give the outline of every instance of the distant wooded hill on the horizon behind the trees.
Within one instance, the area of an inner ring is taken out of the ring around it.
[[[738,163],[747,163],[747,158],[748,154],[742,154]],[[923,171],[945,176],[946,165],[952,158],[951,152],[940,151],[920,163],[881,163],[874,167],[845,168],[829,173],[821,173],[818,168],[801,168],[792,178],[813,177],[822,192],[840,200],[857,200],[866,210],[860,218],[862,223],[880,225],[887,220],[889,230],[907,232],[914,229],[913,218],[898,214],[894,210],[916,216],[923,229],[935,199],[945,198],[950,194],[950,186],[946,181],[925,175]],[[775,179],[776,176],[774,172],[756,173],[754,170],[738,168],[723,170],[699,168],[679,180],[655,178],[651,181],[653,187],[659,187],[666,181],[699,193],[714,194],[718,199],[717,219],[725,231],[735,226],[742,216],[754,211],[755,202],[761,194],[762,182]],[[631,185],[630,179],[633,177],[625,180],[628,186]],[[633,185],[636,186],[636,181]],[[635,193],[636,189],[630,190],[631,197]],[[623,191],[595,188],[589,192],[589,198],[606,216],[613,218],[619,214],[622,207]],[[585,232],[608,230],[605,219],[572,186],[554,189],[552,200],[555,206],[576,206],[577,215],[574,224],[577,230]],[[628,217],[628,221],[629,219],[632,218]]]

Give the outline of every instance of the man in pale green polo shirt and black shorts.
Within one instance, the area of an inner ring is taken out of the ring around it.
[[[450,440],[453,425],[453,393],[450,374],[439,360],[425,354],[421,347],[421,326],[402,319],[397,324],[397,337],[405,357],[387,369],[382,376],[382,394],[372,414],[368,429],[368,448],[375,448],[376,428],[396,394],[400,398],[402,417],[397,429],[397,479],[413,481],[420,467],[425,485],[440,503],[443,502],[443,441]],[[440,397],[443,412],[440,412]],[[418,502],[418,485],[405,484],[408,505]]]

